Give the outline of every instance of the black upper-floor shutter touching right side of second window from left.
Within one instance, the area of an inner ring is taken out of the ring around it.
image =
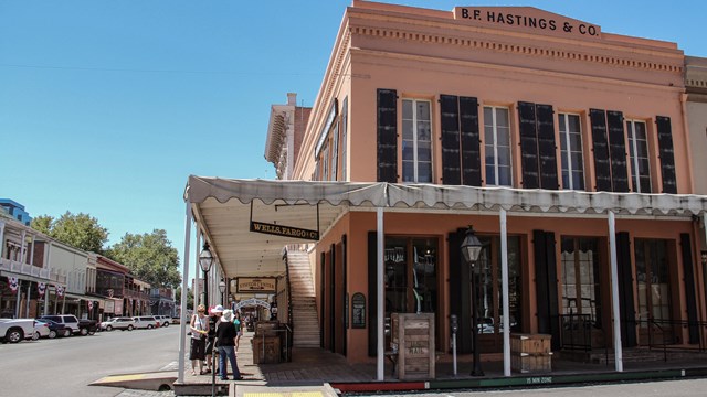
[[[523,187],[538,189],[538,136],[536,132],[535,104],[518,103],[520,120],[520,165],[523,168]]]

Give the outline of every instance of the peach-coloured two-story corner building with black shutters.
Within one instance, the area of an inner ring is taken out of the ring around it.
[[[392,312],[435,313],[441,353],[457,315],[458,350],[472,352],[471,294],[489,356],[507,357],[510,332],[550,334],[555,351],[704,346],[707,197],[685,55],[597,22],[355,0],[286,172],[268,130],[278,175],[320,182],[190,179],[200,233],[217,251],[222,242],[230,273],[236,248],[215,221],[224,207],[251,203],[251,219],[296,225],[313,210],[285,217],[281,207],[279,222],[266,206],[318,204],[309,258],[320,345],[350,362],[380,366]],[[384,208],[356,196],[379,186]],[[484,244],[475,278],[460,251],[468,225]],[[281,261],[271,256],[257,269]],[[354,296],[365,298],[362,323]]]

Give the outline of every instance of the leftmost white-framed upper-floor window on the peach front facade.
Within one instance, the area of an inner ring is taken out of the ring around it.
[[[402,101],[402,181],[432,182],[430,101]]]

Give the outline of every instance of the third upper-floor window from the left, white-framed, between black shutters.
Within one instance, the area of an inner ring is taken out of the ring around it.
[[[562,152],[562,187],[584,190],[582,129],[579,115],[559,115],[560,148]]]

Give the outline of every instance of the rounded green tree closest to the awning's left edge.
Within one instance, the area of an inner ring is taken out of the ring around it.
[[[126,233],[120,243],[108,248],[106,256],[127,266],[152,288],[175,288],[181,282],[179,255],[163,229],[143,235]]]

